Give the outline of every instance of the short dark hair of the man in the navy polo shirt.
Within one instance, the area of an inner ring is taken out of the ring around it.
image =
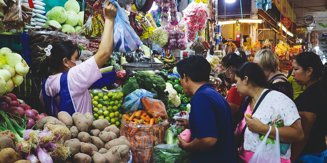
[[[190,55],[188,58],[180,60],[176,67],[181,79],[185,74],[193,82],[209,82],[211,66],[202,55]]]

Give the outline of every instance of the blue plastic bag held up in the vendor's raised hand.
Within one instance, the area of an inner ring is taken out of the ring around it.
[[[125,9],[117,1],[108,0],[117,6],[117,15],[113,27],[113,47],[115,52],[131,52],[140,47],[141,40],[129,24]]]

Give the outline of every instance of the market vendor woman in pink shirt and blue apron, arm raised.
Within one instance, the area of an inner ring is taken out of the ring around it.
[[[98,79],[102,67],[110,58],[113,46],[113,27],[117,7],[107,1],[105,26],[98,52],[81,63],[80,49],[69,41],[62,41],[49,48],[53,75],[45,79],[40,94],[46,114],[57,116],[60,111],[92,112],[92,99],[88,88]],[[48,52],[48,53],[49,53]]]

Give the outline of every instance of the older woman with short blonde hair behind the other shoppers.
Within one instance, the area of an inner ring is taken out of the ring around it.
[[[267,89],[285,94],[293,100],[293,87],[286,76],[279,71],[279,59],[270,49],[263,49],[255,54],[254,62],[258,63],[265,72]]]

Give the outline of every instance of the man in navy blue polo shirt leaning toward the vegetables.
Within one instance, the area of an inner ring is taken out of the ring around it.
[[[189,114],[192,141],[178,136],[179,147],[192,153],[192,163],[236,163],[232,111],[208,83],[209,62],[202,55],[190,55],[177,63],[177,71],[186,96],[193,96]]]

